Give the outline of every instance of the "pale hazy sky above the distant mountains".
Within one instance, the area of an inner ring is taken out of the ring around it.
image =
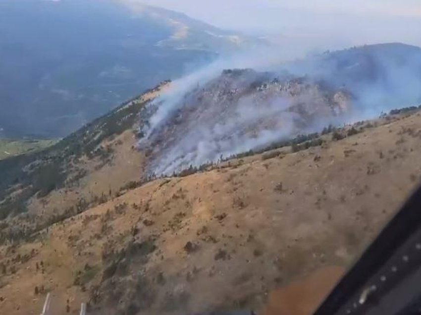
[[[225,29],[421,46],[421,0],[139,0]]]

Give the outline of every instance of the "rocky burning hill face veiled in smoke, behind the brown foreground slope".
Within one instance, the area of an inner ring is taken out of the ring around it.
[[[151,171],[172,173],[320,129],[346,116],[351,101],[306,77],[224,70],[187,93],[141,147],[151,150]]]

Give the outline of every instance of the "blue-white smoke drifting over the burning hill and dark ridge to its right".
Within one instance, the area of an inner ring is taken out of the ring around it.
[[[261,71],[223,71],[248,67]],[[329,123],[367,119],[419,102],[421,50],[416,47],[366,46],[286,63],[276,54],[244,55],[174,82],[151,105],[139,146],[152,150],[151,173],[169,175]]]

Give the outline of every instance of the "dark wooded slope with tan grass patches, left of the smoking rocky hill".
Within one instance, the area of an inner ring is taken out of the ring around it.
[[[0,243],[32,235],[136,187],[145,160],[136,149],[140,112],[167,84],[126,102],[45,151],[0,160],[0,220],[5,219]]]

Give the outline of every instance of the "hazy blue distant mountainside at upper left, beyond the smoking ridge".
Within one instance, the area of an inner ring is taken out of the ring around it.
[[[0,136],[65,136],[158,82],[261,45],[111,0],[0,2]]]

